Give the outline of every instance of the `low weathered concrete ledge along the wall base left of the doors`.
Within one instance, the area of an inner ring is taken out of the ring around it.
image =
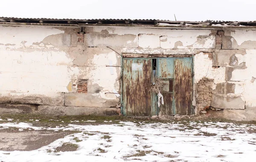
[[[37,115],[116,115],[116,108],[110,107],[73,107],[73,106],[50,106],[33,104],[0,104],[1,114],[37,114]]]

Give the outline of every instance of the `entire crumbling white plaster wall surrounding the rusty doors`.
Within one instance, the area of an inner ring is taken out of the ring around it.
[[[255,107],[256,40],[252,35],[256,31],[252,29],[86,26],[84,34],[77,34],[79,31],[67,27],[0,26],[0,36],[6,38],[0,40],[1,64],[5,65],[0,69],[0,102],[58,105],[70,110],[91,107],[91,111],[95,107],[113,107],[119,103],[118,94],[113,93],[121,93],[122,55],[190,55],[194,64],[195,113],[201,110],[197,86],[202,80],[210,81],[205,84],[209,86],[204,94],[207,107]],[[79,80],[87,81],[87,93],[76,92]],[[41,110],[45,107],[41,106]]]

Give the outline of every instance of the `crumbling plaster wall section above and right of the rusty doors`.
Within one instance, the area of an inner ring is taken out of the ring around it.
[[[86,46],[111,46],[126,57],[193,55],[196,113],[201,110],[197,86],[202,80],[209,81],[203,96],[207,108],[244,110],[256,104],[253,30],[95,26],[85,32]]]

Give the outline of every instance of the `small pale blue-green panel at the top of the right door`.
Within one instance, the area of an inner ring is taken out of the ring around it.
[[[174,58],[158,58],[158,77],[174,78]]]

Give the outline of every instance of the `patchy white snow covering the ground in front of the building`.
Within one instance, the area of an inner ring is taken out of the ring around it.
[[[256,157],[256,126],[224,122],[146,123],[34,127],[2,123],[0,127],[74,133],[32,151],[0,151],[3,162],[251,162]],[[65,144],[76,151],[61,152]]]

